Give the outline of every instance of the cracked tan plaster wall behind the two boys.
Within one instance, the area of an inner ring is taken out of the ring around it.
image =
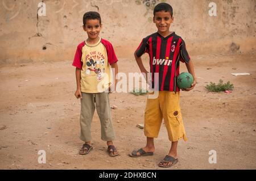
[[[38,4],[46,3],[46,16]],[[150,2],[150,1],[147,1]],[[160,2],[160,1],[158,1]],[[255,52],[255,0],[174,0],[171,30],[183,37],[191,54]],[[217,16],[209,16],[210,2]],[[101,36],[114,45],[118,57],[133,58],[141,39],[156,31],[152,8],[134,0],[0,0],[1,64],[72,60],[76,47],[86,39],[82,16],[101,14]]]

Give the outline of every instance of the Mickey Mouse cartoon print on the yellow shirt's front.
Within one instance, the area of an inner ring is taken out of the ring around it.
[[[86,75],[96,75],[97,81],[101,81],[105,74],[105,60],[100,56],[91,56],[86,61]],[[99,60],[100,59],[100,60]]]

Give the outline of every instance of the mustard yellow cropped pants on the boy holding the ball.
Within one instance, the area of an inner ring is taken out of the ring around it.
[[[187,141],[185,128],[180,112],[180,92],[159,91],[156,99],[147,99],[144,114],[144,134],[157,138],[164,119],[170,141],[183,138]]]

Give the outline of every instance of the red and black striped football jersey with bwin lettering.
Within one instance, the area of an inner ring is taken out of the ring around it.
[[[152,88],[154,89],[154,73],[158,73],[159,91],[179,91],[176,77],[179,75],[180,61],[188,63],[188,55],[184,40],[175,34],[163,37],[158,32],[145,37],[136,50],[137,57],[148,53]]]

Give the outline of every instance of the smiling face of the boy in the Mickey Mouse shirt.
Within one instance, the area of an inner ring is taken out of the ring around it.
[[[87,32],[89,39],[97,39],[98,35],[100,34],[102,24],[98,19],[88,19],[86,20],[84,31]]]

